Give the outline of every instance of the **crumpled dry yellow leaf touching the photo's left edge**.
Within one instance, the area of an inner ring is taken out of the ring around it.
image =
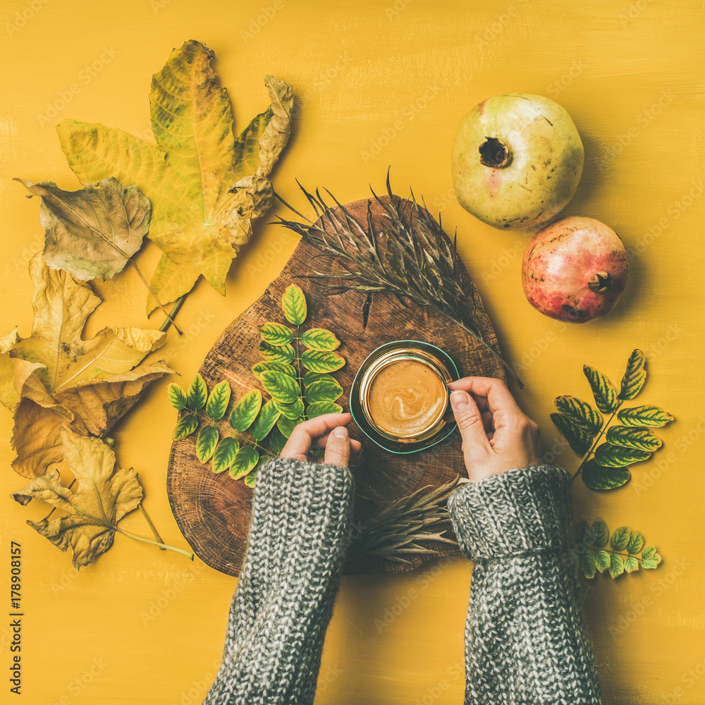
[[[87,284],[48,267],[41,255],[30,262],[30,274],[32,336],[20,339],[12,331],[0,338],[0,401],[14,412],[13,468],[23,477],[42,475],[61,460],[61,424],[104,436],[147,384],[172,372],[163,362],[139,364],[166,333],[106,328],[83,341],[85,320],[99,298]]]

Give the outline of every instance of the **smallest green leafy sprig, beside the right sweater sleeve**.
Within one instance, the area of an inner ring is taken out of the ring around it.
[[[609,539],[609,545],[608,545]],[[588,525],[582,520],[575,527],[577,549],[574,553],[578,569],[587,578],[607,571],[612,578],[639,570],[658,568],[661,556],[656,546],[645,546],[644,537],[630,527],[618,527],[610,536],[606,523],[599,517]]]

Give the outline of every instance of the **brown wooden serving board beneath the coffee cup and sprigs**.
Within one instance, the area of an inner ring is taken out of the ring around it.
[[[384,210],[374,200],[371,203],[373,226],[379,232],[379,218]],[[368,200],[356,201],[347,204],[345,209],[358,221],[366,223],[367,205]],[[401,201],[401,206],[408,218],[412,210],[410,202]],[[381,238],[379,241],[381,243]],[[364,294],[348,291],[328,296],[312,282],[295,278],[312,271],[312,258],[317,254],[312,245],[302,240],[262,298],[228,326],[204,360],[200,373],[209,389],[223,379],[231,384],[231,408],[252,388],[259,388],[264,394],[259,380],[252,373],[252,365],[261,360],[257,350],[260,341],[257,329],[264,321],[286,322],[281,311],[281,296],[290,283],[298,283],[307,298],[308,317],[303,328],[326,328],[341,340],[338,353],[347,362],[345,367],[333,374],[345,389],[345,394],[338,400],[345,410],[349,409],[348,391],[355,372],[374,348],[388,341],[427,341],[446,350],[462,376],[473,374],[505,379],[503,367],[496,357],[460,326],[434,309],[422,309],[413,303],[405,307],[393,295],[376,293],[372,296],[367,326],[363,327]],[[314,267],[320,269],[326,261],[327,258],[319,258]],[[477,302],[477,320],[484,339],[498,350],[494,329],[479,300],[477,289],[462,264],[460,278],[468,297],[474,296]],[[467,476],[457,430],[446,441],[412,455],[393,455],[382,450],[372,441],[367,441],[354,425],[351,425],[350,433],[366,441],[362,462],[358,467],[351,468],[355,491],[369,498],[356,497],[355,520],[362,525],[366,517],[376,515],[391,501],[420,487],[438,486],[456,474]],[[209,466],[202,465],[196,458],[195,438],[193,434],[173,443],[171,448],[166,476],[171,509],[179,529],[197,556],[216,570],[238,575],[247,545],[252,489],[242,480],[233,480],[228,472],[214,474]],[[454,538],[450,522],[446,535]],[[453,544],[436,542],[429,544],[429,547],[438,551],[439,555],[458,553]],[[369,558],[348,563],[345,572],[401,572],[414,568],[424,560],[424,556],[418,556],[412,558],[410,563],[394,563]]]

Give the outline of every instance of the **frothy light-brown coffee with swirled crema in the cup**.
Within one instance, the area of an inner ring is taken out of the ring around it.
[[[372,420],[381,431],[415,436],[433,426],[443,414],[446,386],[424,362],[399,360],[374,376],[367,403]]]

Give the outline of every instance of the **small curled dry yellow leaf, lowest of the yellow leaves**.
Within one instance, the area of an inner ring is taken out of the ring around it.
[[[41,499],[64,514],[27,524],[62,551],[71,546],[73,565],[80,568],[110,548],[117,523],[142,500],[142,487],[132,468],[113,472],[115,454],[100,439],[62,427],[61,443],[78,489],[63,486],[59,470],[49,470],[13,494],[13,499],[20,504]]]

